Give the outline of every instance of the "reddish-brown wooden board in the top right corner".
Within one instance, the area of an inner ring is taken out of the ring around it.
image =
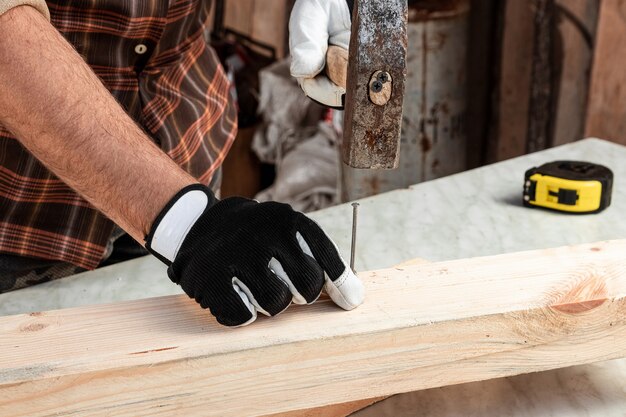
[[[587,107],[586,136],[626,144],[626,2],[602,0]]]

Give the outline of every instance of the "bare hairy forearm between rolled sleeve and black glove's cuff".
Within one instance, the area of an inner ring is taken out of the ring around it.
[[[169,199],[196,182],[28,6],[0,16],[0,123],[140,242]]]

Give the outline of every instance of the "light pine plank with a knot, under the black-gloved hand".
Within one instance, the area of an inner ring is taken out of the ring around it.
[[[220,327],[184,296],[0,318],[0,415],[259,416],[626,355],[626,240],[362,273]]]

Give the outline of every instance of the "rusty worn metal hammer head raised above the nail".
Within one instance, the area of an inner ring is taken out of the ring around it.
[[[352,12],[343,160],[397,168],[406,79],[407,0],[357,0]]]

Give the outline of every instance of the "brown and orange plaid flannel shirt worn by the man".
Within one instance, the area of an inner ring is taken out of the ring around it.
[[[53,26],[128,114],[179,166],[208,183],[236,134],[229,82],[204,38],[211,2],[46,3]],[[93,269],[113,226],[0,126],[0,253]]]

